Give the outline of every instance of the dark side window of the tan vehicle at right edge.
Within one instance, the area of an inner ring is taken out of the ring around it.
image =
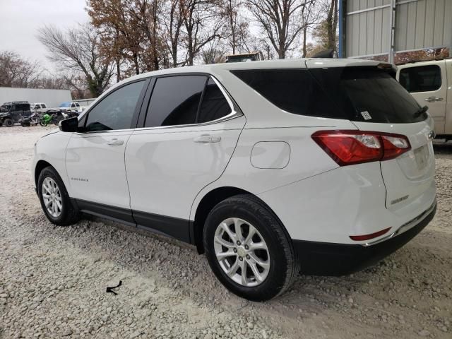
[[[408,67],[400,70],[399,81],[410,93],[433,92],[441,88],[441,69],[438,65]]]

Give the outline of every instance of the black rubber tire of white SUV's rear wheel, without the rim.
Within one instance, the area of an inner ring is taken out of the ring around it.
[[[259,285],[246,287],[236,283],[218,262],[214,249],[215,231],[218,225],[228,218],[246,220],[258,230],[266,242],[270,254],[270,268],[265,280]],[[283,224],[263,201],[251,194],[227,198],[210,211],[204,225],[203,244],[210,268],[218,280],[228,290],[245,299],[256,302],[272,299],[285,292],[299,273],[299,263],[292,241]]]

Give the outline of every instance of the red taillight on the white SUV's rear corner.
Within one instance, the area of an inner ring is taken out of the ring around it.
[[[317,131],[311,138],[340,166],[393,159],[411,149],[406,136],[369,131]]]

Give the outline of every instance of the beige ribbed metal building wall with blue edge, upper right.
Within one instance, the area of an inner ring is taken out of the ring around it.
[[[339,0],[340,57],[452,49],[452,0]]]

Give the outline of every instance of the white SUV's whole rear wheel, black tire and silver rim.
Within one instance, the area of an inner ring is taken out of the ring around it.
[[[258,198],[227,198],[210,211],[203,242],[210,267],[228,290],[254,301],[280,295],[299,271],[278,217]]]

